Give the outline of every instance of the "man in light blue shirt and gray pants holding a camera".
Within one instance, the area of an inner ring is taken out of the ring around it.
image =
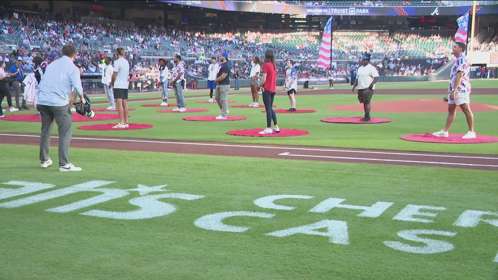
[[[80,70],[73,61],[76,57],[76,47],[67,44],[62,47],[62,57],[50,63],[38,84],[37,109],[41,115],[40,161],[41,167],[52,164],[48,157],[50,135],[54,126],[54,118],[59,127],[59,171],[81,171],[69,162],[69,145],[73,136],[73,115],[69,108],[69,95],[72,88],[85,104]]]

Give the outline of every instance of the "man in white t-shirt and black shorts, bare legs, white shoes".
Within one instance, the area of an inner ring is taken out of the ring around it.
[[[114,62],[113,77],[111,85],[114,90],[114,97],[116,98],[116,105],[118,107],[118,114],[120,116],[120,123],[114,126],[114,129],[125,129],[128,125],[128,78],[129,78],[129,64],[124,58],[124,48],[118,47],[116,49],[118,60]]]

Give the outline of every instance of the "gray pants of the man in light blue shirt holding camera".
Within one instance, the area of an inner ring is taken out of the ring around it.
[[[41,138],[40,138],[40,160],[48,160],[48,150],[50,147],[50,135],[54,127],[54,118],[59,127],[59,165],[69,163],[69,145],[73,137],[73,115],[69,105],[61,107],[51,107],[38,105],[36,107],[41,114]]]

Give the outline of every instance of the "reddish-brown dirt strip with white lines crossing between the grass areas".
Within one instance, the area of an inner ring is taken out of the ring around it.
[[[0,143],[38,145],[39,136],[0,134]],[[57,146],[56,139],[51,146]],[[73,137],[71,147],[498,170],[498,156],[476,154],[98,137]]]

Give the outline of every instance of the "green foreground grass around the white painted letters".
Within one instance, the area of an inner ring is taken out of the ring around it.
[[[74,148],[71,157],[77,158],[85,169],[68,174],[55,171],[54,166],[42,170],[34,165],[35,146],[2,147],[8,152],[2,153],[1,162],[11,158],[10,153],[15,154],[16,160],[2,167],[1,182],[48,183],[60,190],[91,180],[105,180],[116,182],[107,188],[128,190],[128,194],[87,207],[88,204],[82,203],[77,210],[66,213],[46,210],[89,199],[101,192],[77,192],[15,208],[0,208],[3,237],[0,279],[489,280],[498,277],[497,264],[493,262],[498,252],[498,229],[485,222],[476,227],[453,225],[465,210],[498,210],[497,177],[493,171],[292,161],[298,162],[296,167],[295,163],[279,159]],[[56,150],[53,148],[52,154]],[[81,215],[90,210],[140,209],[128,202],[140,196],[137,191],[129,190],[138,184],[167,184],[164,188],[170,190],[144,195],[174,192],[204,197],[190,201],[160,199],[177,209],[152,218],[122,220]],[[5,190],[0,190],[4,194]],[[0,205],[50,190],[0,199]],[[294,210],[267,209],[253,203],[257,198],[280,194],[313,197],[275,201],[295,207]],[[393,204],[376,218],[359,217],[362,210],[344,208],[309,212],[331,197],[345,199],[342,204],[370,206],[377,201]],[[408,204],[446,210],[421,210],[435,212],[437,217],[415,216],[431,219],[432,223],[394,220]],[[227,225],[249,227],[245,232],[213,231],[194,225],[200,217],[229,211],[274,216],[236,216],[223,220]],[[265,235],[323,220],[347,223],[349,244],[329,242],[328,236],[317,235],[326,234],[326,228],[315,230],[314,235]],[[420,235],[446,242],[446,246],[451,244],[453,249],[434,254],[407,253],[383,243],[401,242],[423,251],[426,244],[396,234],[414,229],[456,233],[455,236]]]

